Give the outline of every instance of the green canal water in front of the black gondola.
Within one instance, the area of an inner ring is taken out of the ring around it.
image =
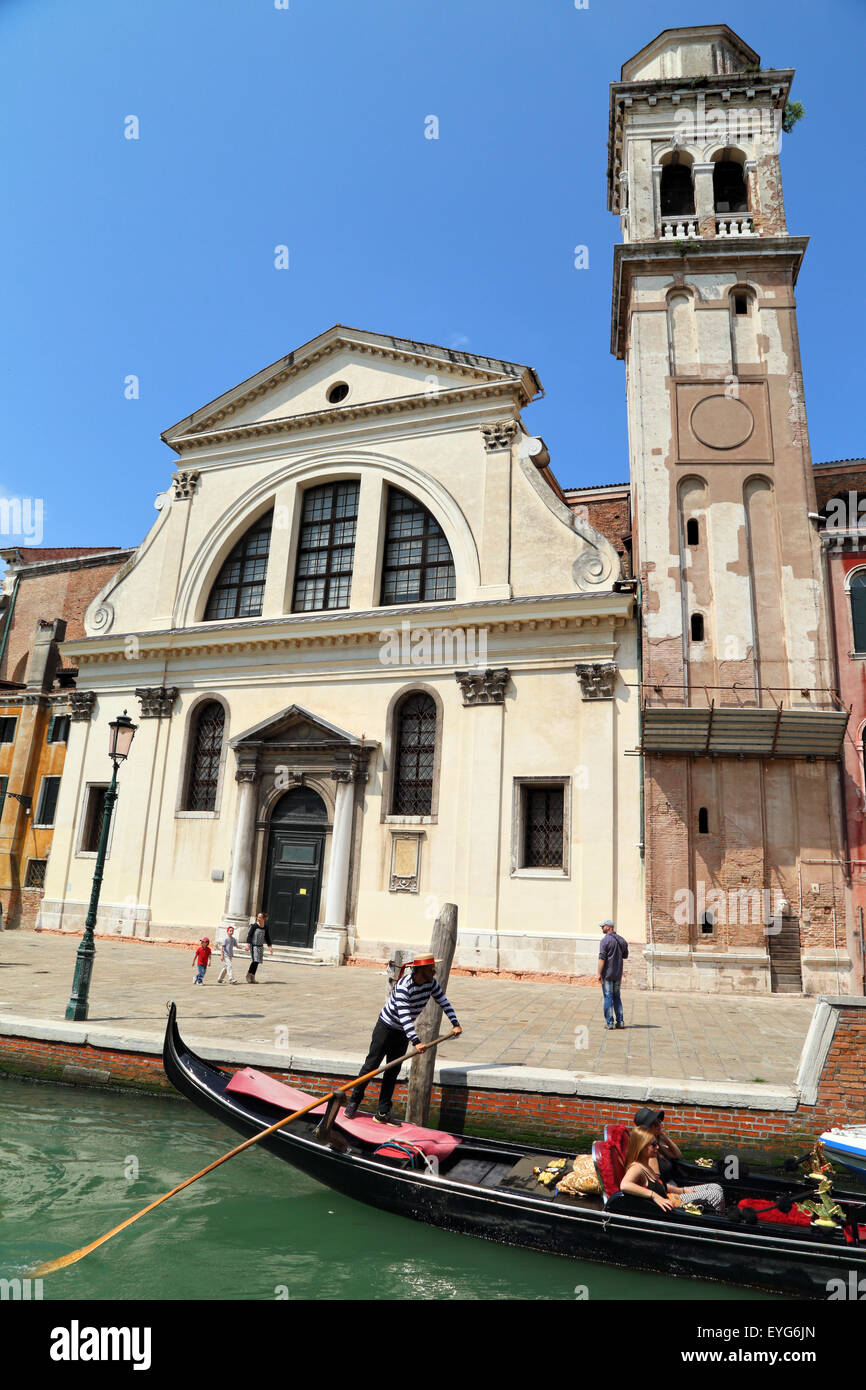
[[[0,1277],[89,1244],[238,1143],[181,1101],[0,1079]],[[44,1300],[756,1300],[453,1236],[252,1150],[43,1282]]]

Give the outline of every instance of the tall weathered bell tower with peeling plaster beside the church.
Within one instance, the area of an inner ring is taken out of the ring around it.
[[[792,71],[666,29],[610,88],[641,584],[648,979],[844,991],[833,691],[780,146]]]

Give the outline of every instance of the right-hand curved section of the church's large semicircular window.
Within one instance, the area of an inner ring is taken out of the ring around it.
[[[381,602],[425,603],[453,596],[455,562],[442,527],[414,498],[389,488]]]

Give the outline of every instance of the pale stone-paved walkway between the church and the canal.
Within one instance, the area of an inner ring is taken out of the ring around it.
[[[0,1012],[61,1020],[78,938],[0,934]],[[246,956],[236,958],[243,979]],[[250,1051],[363,1058],[386,994],[385,972],[274,963],[256,987],[193,986],[192,949],[99,940],[89,1023],[161,1038],[165,1001],[182,1031]],[[812,999],[624,992],[626,1029],[605,1029],[601,990],[456,976],[449,997],[464,1029],[443,1061],[552,1068],[587,1076],[791,1086]]]

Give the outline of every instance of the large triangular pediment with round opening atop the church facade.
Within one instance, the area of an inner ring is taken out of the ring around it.
[[[339,423],[405,409],[413,400],[420,409],[434,396],[503,391],[516,393],[523,406],[541,385],[532,368],[520,363],[335,324],[178,421],[161,438],[179,453],[231,430]]]

